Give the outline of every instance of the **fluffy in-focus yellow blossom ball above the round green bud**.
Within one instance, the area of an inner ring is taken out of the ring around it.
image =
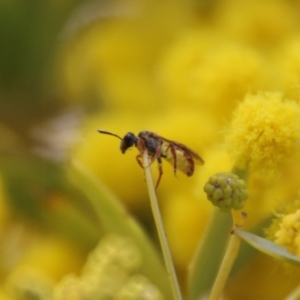
[[[299,158],[299,140],[300,106],[276,92],[246,95],[227,135],[237,167],[270,174]]]

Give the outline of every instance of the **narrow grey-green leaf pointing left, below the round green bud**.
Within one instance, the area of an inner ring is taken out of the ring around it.
[[[258,251],[261,251],[272,257],[283,259],[293,264],[300,265],[300,258],[298,256],[289,253],[285,248],[267,239],[261,238],[255,234],[240,229],[236,229],[234,233]]]

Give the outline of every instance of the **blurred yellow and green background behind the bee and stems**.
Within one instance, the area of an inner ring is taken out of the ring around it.
[[[189,178],[163,162],[157,190],[186,291],[212,211],[203,186],[235,163],[225,143],[234,109],[260,91],[299,101],[299,2],[3,1],[0,28],[1,299],[32,299],[28,291],[51,299],[105,233],[65,176],[71,161],[94,174],[159,249],[138,152],[122,155],[120,141],[99,128],[121,137],[153,131],[204,159]],[[152,169],[156,181],[156,163]],[[284,182],[251,174],[249,229],[295,199],[297,174],[299,165],[282,170]],[[224,299],[283,299],[299,280],[273,272],[277,264],[249,258]],[[252,288],[257,282],[264,293]]]

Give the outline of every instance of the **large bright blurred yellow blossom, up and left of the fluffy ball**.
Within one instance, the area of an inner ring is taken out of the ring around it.
[[[249,88],[266,86],[267,70],[257,49],[194,29],[165,52],[159,75],[170,103],[212,112],[222,122]]]

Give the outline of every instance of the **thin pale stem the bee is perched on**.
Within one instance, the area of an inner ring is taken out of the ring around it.
[[[170,283],[171,283],[171,287],[172,287],[172,291],[173,291],[173,295],[174,295],[174,300],[182,300],[179,284],[178,284],[177,277],[176,277],[175,268],[173,265],[171,252],[169,249],[166,233],[164,230],[162,218],[161,218],[159,207],[158,207],[158,202],[157,202],[157,198],[156,198],[155,188],[153,185],[152,173],[151,173],[151,168],[150,168],[150,164],[149,164],[147,151],[143,152],[143,165],[144,165],[144,169],[145,169],[145,176],[146,176],[146,182],[147,182],[147,186],[148,186],[148,192],[149,192],[149,197],[150,197],[152,213],[154,216],[156,229],[158,232],[158,237],[159,237],[160,245],[162,248],[163,257],[165,260],[167,273],[168,273],[168,276],[170,279]]]

